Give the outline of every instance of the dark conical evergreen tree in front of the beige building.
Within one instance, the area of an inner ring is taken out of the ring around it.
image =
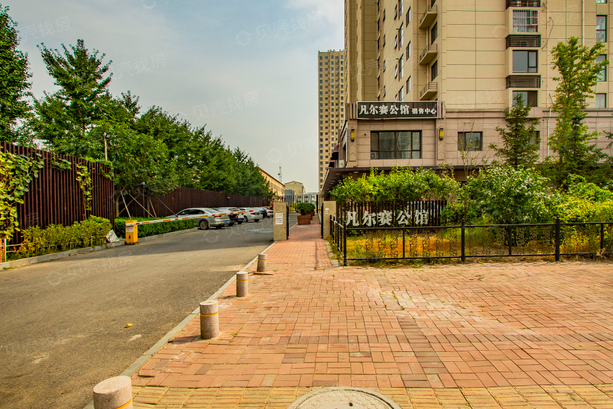
[[[538,119],[529,119],[530,106],[524,105],[521,94],[517,95],[515,105],[511,110],[505,110],[504,116],[507,129],[497,127],[496,130],[502,138],[503,146],[492,144],[491,149],[503,161],[517,169],[520,165],[533,167],[539,159],[540,137],[536,132]]]

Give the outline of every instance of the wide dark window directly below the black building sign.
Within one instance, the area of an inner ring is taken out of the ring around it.
[[[421,159],[421,131],[371,132],[371,159]]]

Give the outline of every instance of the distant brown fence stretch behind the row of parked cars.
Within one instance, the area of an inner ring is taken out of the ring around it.
[[[229,193],[179,187],[161,196],[125,196],[129,217],[165,217],[188,207],[250,207],[267,206],[269,200],[263,197],[248,197]],[[123,203],[119,206],[119,216],[128,217]]]

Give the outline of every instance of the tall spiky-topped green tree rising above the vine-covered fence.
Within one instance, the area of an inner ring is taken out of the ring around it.
[[[93,139],[90,131],[105,118],[111,100],[108,86],[112,74],[107,75],[111,61],[103,63],[105,54],[89,52],[83,40],[68,48],[62,44],[62,52],[44,44],[39,48],[49,75],[60,89],[35,101],[34,131],[56,152],[96,157],[103,141]]]

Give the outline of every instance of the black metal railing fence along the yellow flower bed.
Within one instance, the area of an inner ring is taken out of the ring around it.
[[[332,240],[348,261],[613,255],[613,222],[351,227],[331,216]]]

